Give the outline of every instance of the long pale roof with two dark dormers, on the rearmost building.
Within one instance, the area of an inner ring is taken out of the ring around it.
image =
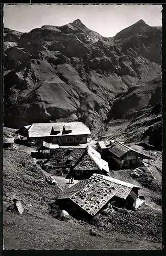
[[[60,122],[60,123],[33,123],[29,129],[29,138],[34,137],[51,137],[51,136],[66,136],[66,134],[62,134],[63,127],[70,126],[72,132],[69,135],[83,135],[90,134],[89,128],[83,122]],[[60,133],[56,135],[50,135],[52,131],[52,127],[58,127],[60,129]]]

